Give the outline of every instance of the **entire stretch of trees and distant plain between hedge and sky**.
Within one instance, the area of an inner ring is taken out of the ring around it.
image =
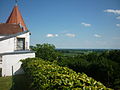
[[[56,49],[52,44],[31,46],[36,57],[85,73],[106,87],[120,89],[120,50]]]

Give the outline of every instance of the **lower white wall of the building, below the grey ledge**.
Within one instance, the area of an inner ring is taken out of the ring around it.
[[[22,73],[21,70],[19,70],[21,67],[20,60],[25,58],[33,58],[33,57],[35,57],[35,53],[3,55],[2,76],[11,76],[12,66],[13,66],[14,74]]]

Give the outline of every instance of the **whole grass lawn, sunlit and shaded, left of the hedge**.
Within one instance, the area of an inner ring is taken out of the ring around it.
[[[0,90],[29,90],[27,81],[24,75],[15,75],[13,77],[0,77]]]

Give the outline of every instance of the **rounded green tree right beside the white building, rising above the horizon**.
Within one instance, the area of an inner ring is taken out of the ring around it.
[[[31,49],[35,51],[36,57],[48,61],[58,60],[60,56],[60,53],[55,50],[55,46],[52,44],[36,44],[36,46],[31,46]]]

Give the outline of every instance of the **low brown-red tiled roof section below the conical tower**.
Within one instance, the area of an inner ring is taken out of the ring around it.
[[[0,23],[0,35],[10,35],[23,32],[23,29],[18,24]]]

